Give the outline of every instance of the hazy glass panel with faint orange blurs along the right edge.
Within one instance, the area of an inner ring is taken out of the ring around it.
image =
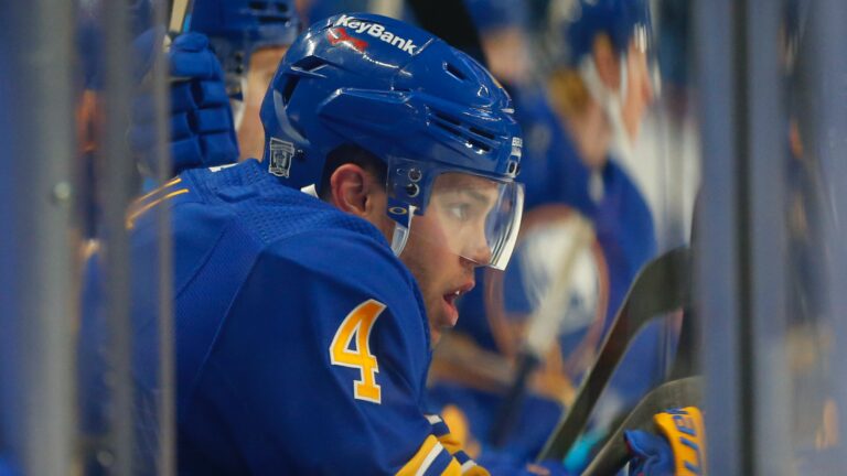
[[[791,444],[797,474],[844,467],[845,379],[838,350],[845,327],[841,197],[847,105],[841,2],[789,1],[783,10],[787,217],[787,333]]]

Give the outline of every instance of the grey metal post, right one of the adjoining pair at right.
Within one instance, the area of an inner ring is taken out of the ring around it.
[[[742,69],[747,98],[748,149],[741,151],[748,175],[741,184],[748,191],[746,228],[749,237],[742,252],[750,285],[744,309],[750,318],[749,340],[752,372],[742,382],[751,388],[744,412],[750,412],[753,467],[757,474],[780,474],[792,456],[791,375],[787,367],[787,223],[786,169],[787,128],[780,61],[782,2],[748,0],[743,31],[747,44]],[[746,221],[746,223],[744,223]],[[744,316],[742,316],[742,320]]]

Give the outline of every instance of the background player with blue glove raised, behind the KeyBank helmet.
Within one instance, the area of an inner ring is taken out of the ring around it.
[[[168,53],[174,174],[261,155],[259,106],[299,30],[292,0],[194,3],[189,32],[178,36]],[[150,172],[158,160],[152,104],[148,96],[136,101],[130,131],[133,149]]]

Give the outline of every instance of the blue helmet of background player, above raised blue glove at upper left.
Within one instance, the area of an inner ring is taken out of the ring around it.
[[[227,76],[227,89],[237,94],[250,54],[290,45],[300,19],[293,0],[196,0],[190,30],[208,36]]]

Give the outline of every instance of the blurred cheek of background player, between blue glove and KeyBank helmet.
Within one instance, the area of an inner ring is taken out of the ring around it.
[[[259,110],[265,99],[274,74],[288,47],[267,46],[250,55],[247,68],[247,84],[244,87],[244,116],[238,125],[238,148],[240,159],[261,158],[265,150],[265,129],[261,126]]]

